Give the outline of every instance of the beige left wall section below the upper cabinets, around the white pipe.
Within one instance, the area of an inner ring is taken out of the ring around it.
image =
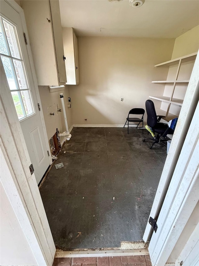
[[[57,111],[57,104],[58,108],[62,109],[61,99],[59,96],[60,93],[63,93],[64,96],[68,128],[70,129],[70,127],[72,126],[71,109],[67,108],[68,97],[70,97],[69,89],[65,88],[65,90],[62,91],[56,91],[50,93],[48,86],[39,86],[39,94],[44,113],[44,120],[45,120],[48,140],[52,138],[52,136],[56,132],[56,128],[58,128],[60,133],[66,131],[63,112]],[[54,115],[50,115],[50,113],[54,113]],[[63,138],[64,137],[61,137],[60,140],[62,141]]]

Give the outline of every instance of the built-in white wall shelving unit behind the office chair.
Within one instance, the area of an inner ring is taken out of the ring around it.
[[[168,67],[167,80],[152,81],[156,84],[165,84],[163,95],[149,96],[150,99],[159,101],[159,104],[155,101],[159,108],[156,113],[164,115],[163,119],[166,121],[178,117],[180,113],[196,56],[197,52],[155,65],[160,68]],[[162,87],[160,89],[162,90]]]

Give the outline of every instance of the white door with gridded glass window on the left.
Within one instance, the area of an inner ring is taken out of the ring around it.
[[[50,164],[47,152],[49,149],[39,114],[21,16],[6,1],[1,1],[0,54],[35,177],[39,183]]]

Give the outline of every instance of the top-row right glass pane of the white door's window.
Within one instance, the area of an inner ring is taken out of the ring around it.
[[[16,40],[15,27],[13,27],[10,23],[8,23],[5,20],[3,20],[3,24],[7,36],[8,45],[10,47],[11,55],[13,57],[21,59],[17,44],[18,41]]]

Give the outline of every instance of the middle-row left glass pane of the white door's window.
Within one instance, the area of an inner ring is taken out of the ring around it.
[[[1,56],[4,70],[6,72],[7,81],[10,89],[18,89],[15,75],[12,69],[11,59],[5,56]]]

